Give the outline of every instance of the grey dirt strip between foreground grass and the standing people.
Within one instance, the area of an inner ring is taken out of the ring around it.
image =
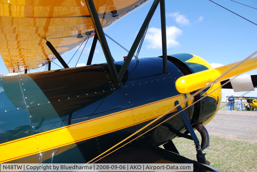
[[[209,134],[257,142],[256,111],[218,111],[206,126]]]

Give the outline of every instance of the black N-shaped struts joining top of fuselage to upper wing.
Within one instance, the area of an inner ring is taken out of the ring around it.
[[[161,2],[160,2],[161,1]],[[130,51],[128,52],[128,55],[127,55],[127,58],[126,60],[124,61],[124,64],[122,65],[121,67],[121,70],[119,72],[119,74],[117,73],[117,70],[115,68],[115,65],[114,65],[114,60],[112,58],[112,55],[111,55],[111,52],[110,52],[110,49],[108,47],[108,43],[106,41],[106,38],[105,38],[105,35],[104,35],[104,31],[103,31],[103,28],[102,28],[102,25],[99,21],[99,18],[98,18],[98,14],[96,12],[96,8],[95,8],[95,5],[94,5],[94,2],[93,0],[85,0],[86,4],[87,4],[87,8],[88,8],[88,11],[89,11],[89,14],[91,16],[91,19],[92,19],[92,22],[94,24],[94,27],[95,27],[95,31],[96,31],[96,35],[94,37],[94,41],[93,41],[93,44],[92,44],[92,47],[91,47],[91,50],[90,50],[90,54],[89,54],[89,57],[88,57],[88,62],[87,62],[87,65],[90,65],[91,64],[91,61],[92,61],[92,58],[93,58],[93,54],[94,54],[94,50],[95,50],[95,44],[96,44],[96,41],[97,41],[97,38],[96,36],[98,37],[98,40],[102,46],[102,49],[103,49],[103,52],[104,52],[104,55],[105,55],[105,58],[106,58],[106,61],[107,61],[107,64],[109,66],[109,69],[111,71],[111,74],[112,74],[112,77],[113,77],[113,80],[114,80],[114,83],[115,84],[119,84],[122,80],[122,78],[124,77],[125,73],[126,73],[126,70],[128,68],[128,65],[130,64],[130,61],[132,60],[132,57],[134,56],[135,54],[135,51],[146,31],[146,28],[148,27],[151,19],[152,19],[152,16],[157,8],[157,6],[159,5],[160,3],[160,9],[161,9],[161,31],[162,31],[162,56],[163,56],[163,73],[167,73],[167,40],[166,40],[166,19],[165,19],[165,3],[164,3],[164,0],[154,0],[147,16],[145,17],[145,20],[133,42],[133,45],[131,46],[131,49]],[[94,44],[95,43],[95,44]]]

